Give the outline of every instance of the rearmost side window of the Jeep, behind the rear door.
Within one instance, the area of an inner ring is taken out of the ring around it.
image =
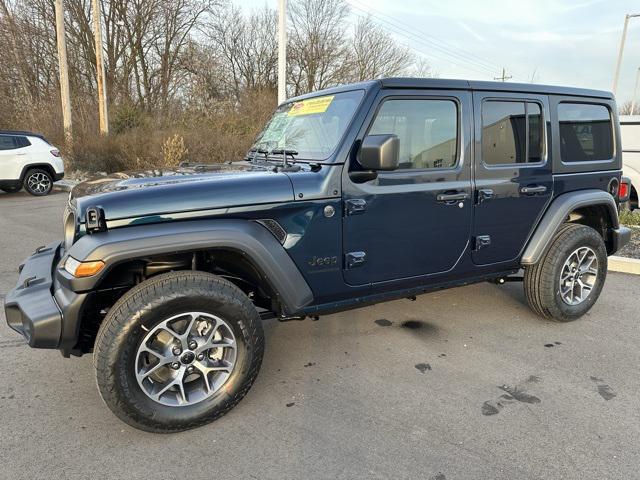
[[[560,157],[563,162],[588,162],[613,158],[611,113],[604,105],[561,103]]]

